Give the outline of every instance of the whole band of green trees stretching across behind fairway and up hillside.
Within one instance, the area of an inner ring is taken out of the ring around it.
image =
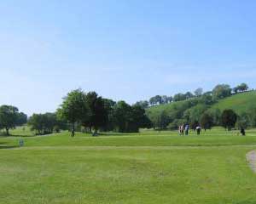
[[[60,130],[70,130],[74,136],[75,130],[83,128],[96,135],[98,131],[115,131],[119,133],[138,132],[140,127],[154,127],[154,129],[176,129],[182,123],[189,123],[191,127],[201,124],[210,128],[223,125],[223,112],[209,109],[218,99],[224,99],[231,94],[247,91],[245,83],[236,88],[227,84],[218,84],[211,92],[203,93],[197,88],[195,94],[176,94],[173,97],[155,96],[148,101],[139,101],[128,105],[125,101],[115,102],[104,99],[96,92],[85,93],[81,89],[73,90],[63,98],[62,104],[55,113],[33,114],[29,119],[26,114],[19,112],[12,105],[0,106],[0,129],[9,129],[27,124],[36,134],[58,133]],[[154,102],[152,102],[154,101]],[[151,111],[148,105],[165,104],[181,101],[172,105],[168,111]],[[256,106],[250,111],[236,115],[237,126],[256,127]]]

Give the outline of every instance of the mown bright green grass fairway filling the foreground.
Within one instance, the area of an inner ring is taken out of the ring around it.
[[[214,129],[175,132],[78,133],[0,138],[0,203],[237,203],[256,202],[256,175],[247,137]]]

